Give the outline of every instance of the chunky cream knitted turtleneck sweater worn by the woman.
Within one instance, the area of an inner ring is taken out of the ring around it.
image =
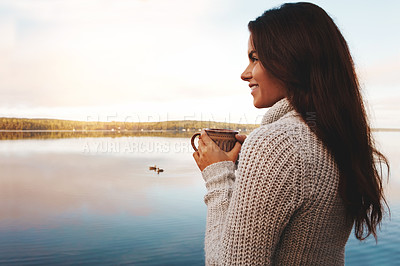
[[[206,265],[344,264],[353,221],[337,165],[286,98],[247,137],[235,170],[224,161],[202,171]]]

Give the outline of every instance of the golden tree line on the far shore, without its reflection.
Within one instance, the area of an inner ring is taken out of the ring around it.
[[[202,128],[227,128],[249,132],[256,124],[177,120],[162,122],[84,122],[60,119],[0,118],[0,130],[110,130],[110,131],[198,131]]]

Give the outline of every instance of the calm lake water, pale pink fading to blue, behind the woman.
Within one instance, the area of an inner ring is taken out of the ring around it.
[[[400,264],[400,132],[374,134],[391,218],[377,245],[350,236],[346,265]],[[0,140],[0,171],[1,265],[204,265],[206,189],[187,137]]]

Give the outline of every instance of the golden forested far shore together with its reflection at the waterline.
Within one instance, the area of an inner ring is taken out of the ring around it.
[[[0,118],[0,140],[98,137],[188,137],[202,128],[226,128],[249,134],[258,124],[214,121],[83,122],[61,119]]]

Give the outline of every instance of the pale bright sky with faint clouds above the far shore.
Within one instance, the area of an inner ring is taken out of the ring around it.
[[[373,127],[400,128],[400,1],[312,1],[339,26]],[[0,0],[0,117],[260,123],[247,23],[282,1]]]

